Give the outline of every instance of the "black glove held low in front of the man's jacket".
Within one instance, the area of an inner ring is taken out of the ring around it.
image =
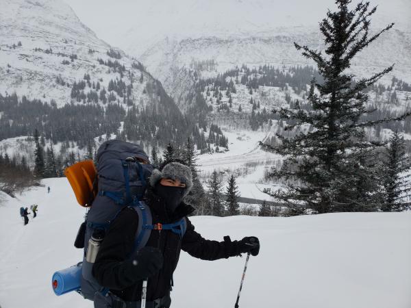
[[[163,266],[163,257],[160,249],[143,247],[132,258],[131,270],[136,279],[145,279],[157,274]]]

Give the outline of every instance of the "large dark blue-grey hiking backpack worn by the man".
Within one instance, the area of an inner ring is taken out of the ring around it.
[[[156,226],[152,225],[149,207],[141,200],[152,170],[149,157],[136,144],[109,140],[101,144],[97,151],[97,193],[83,224],[84,241],[81,246],[84,248],[84,259],[81,290],[78,290],[84,298],[93,300],[95,307],[110,307],[114,295],[92,277],[93,264],[86,260],[88,241],[94,232],[107,231],[119,212],[131,207],[138,214],[134,251],[147,244],[151,230]],[[183,236],[186,220],[183,218],[174,224],[162,225],[162,228]]]

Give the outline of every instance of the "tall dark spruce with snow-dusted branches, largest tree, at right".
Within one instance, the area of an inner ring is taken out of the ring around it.
[[[319,213],[356,211],[373,203],[377,188],[375,170],[364,162],[378,144],[366,140],[365,128],[411,115],[407,112],[396,118],[362,119],[375,111],[369,107],[366,88],[393,70],[393,66],[358,80],[354,80],[347,69],[357,53],[393,24],[370,36],[370,16],[376,8],[370,9],[369,2],[360,2],[349,10],[349,3],[351,0],[336,0],[338,10],[327,12],[327,18],[320,23],[325,54],[295,43],[297,50],[316,63],[324,81],[319,84],[312,80],[308,95],[310,108],[303,109],[296,101],[292,108],[276,112],[280,118],[295,123],[285,127],[286,130],[301,128],[301,125],[310,125],[312,129],[297,131],[292,138],[277,134],[281,140],[279,146],[260,143],[286,157],[282,168],[272,168],[269,176],[288,180],[288,188],[266,192],[288,207],[298,207],[297,212],[304,208]],[[367,168],[369,170],[363,172]],[[360,181],[369,187],[359,189],[353,185]]]

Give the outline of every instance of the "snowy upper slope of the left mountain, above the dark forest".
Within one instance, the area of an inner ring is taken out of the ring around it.
[[[118,51],[116,58],[109,57],[112,47],[97,38],[95,33],[79,21],[75,12],[59,0],[3,0],[0,10],[0,93],[29,99],[53,99],[58,106],[75,101],[71,97],[73,84],[85,81],[90,84],[84,94],[99,89],[108,90],[110,80],[121,79],[126,86],[134,81],[129,98],[135,103],[147,101],[140,84],[141,74],[145,81],[152,78],[142,73],[138,62]],[[121,57],[121,58],[119,58]],[[101,64],[118,62],[120,69]],[[134,66],[133,66],[134,64]],[[93,84],[93,86],[91,86]],[[114,93],[114,92],[113,92]],[[106,96],[108,96],[107,93]],[[114,93],[123,103],[123,97]],[[82,99],[81,101],[84,101]],[[100,100],[101,103],[101,100]]]

